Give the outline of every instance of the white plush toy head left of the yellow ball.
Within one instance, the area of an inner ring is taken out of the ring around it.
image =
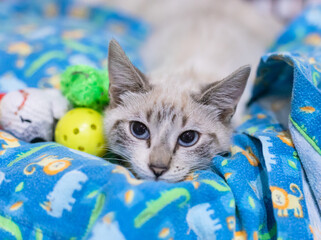
[[[26,142],[52,141],[57,120],[68,110],[68,100],[57,89],[13,91],[1,97],[0,126]]]

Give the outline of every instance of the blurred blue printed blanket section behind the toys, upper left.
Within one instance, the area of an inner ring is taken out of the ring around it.
[[[141,65],[137,48],[148,26],[140,21],[73,1],[3,1],[0,8],[0,92],[59,87],[70,65],[107,68],[112,38]]]

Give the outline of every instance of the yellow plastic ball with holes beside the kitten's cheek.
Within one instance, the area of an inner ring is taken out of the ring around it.
[[[67,112],[57,123],[55,140],[66,147],[103,156],[106,144],[102,115],[90,108]]]

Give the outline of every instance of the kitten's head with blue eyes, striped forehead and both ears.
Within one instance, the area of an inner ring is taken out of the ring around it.
[[[184,83],[177,79],[180,75],[167,75],[158,81],[161,84],[152,84],[112,40],[108,71],[110,106],[104,120],[108,144],[129,161],[136,176],[180,181],[228,151],[230,120],[249,66],[196,90],[170,84]]]

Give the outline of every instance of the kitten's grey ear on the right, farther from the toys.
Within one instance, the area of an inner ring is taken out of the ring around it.
[[[196,96],[196,101],[202,105],[213,106],[222,122],[228,122],[245,89],[251,67],[245,65],[221,81],[205,86]]]

